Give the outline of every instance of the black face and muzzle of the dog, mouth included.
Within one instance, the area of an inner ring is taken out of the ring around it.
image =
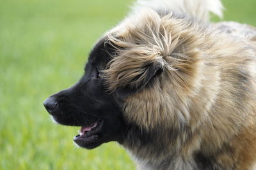
[[[81,80],[44,102],[46,110],[59,124],[81,126],[74,141],[84,148],[121,141],[124,135],[122,112],[113,94],[106,92],[100,73],[111,60],[113,52],[110,45],[99,41],[90,54]]]

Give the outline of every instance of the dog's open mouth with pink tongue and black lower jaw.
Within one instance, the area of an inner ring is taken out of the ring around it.
[[[82,126],[79,134],[74,137],[74,142],[84,148],[94,148],[97,145],[99,132],[102,129],[103,121],[99,120],[91,125]]]

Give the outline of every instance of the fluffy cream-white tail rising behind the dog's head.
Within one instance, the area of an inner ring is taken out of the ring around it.
[[[200,20],[209,20],[209,13],[222,17],[223,6],[220,0],[137,0],[133,10],[140,8],[172,10],[187,13]]]

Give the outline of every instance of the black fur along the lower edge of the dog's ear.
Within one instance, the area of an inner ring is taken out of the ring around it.
[[[144,70],[143,73],[132,78],[132,81],[136,83],[131,82],[115,90],[118,99],[125,99],[136,92],[140,92],[143,88],[147,87],[147,85],[149,86],[150,83],[154,83],[154,78],[163,72],[163,65],[160,63],[150,63],[141,69]]]

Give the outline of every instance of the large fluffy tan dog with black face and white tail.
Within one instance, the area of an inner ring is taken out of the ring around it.
[[[221,16],[218,0],[134,6],[46,110],[81,126],[77,145],[117,141],[138,169],[253,169],[256,29],[207,22],[210,11]]]

